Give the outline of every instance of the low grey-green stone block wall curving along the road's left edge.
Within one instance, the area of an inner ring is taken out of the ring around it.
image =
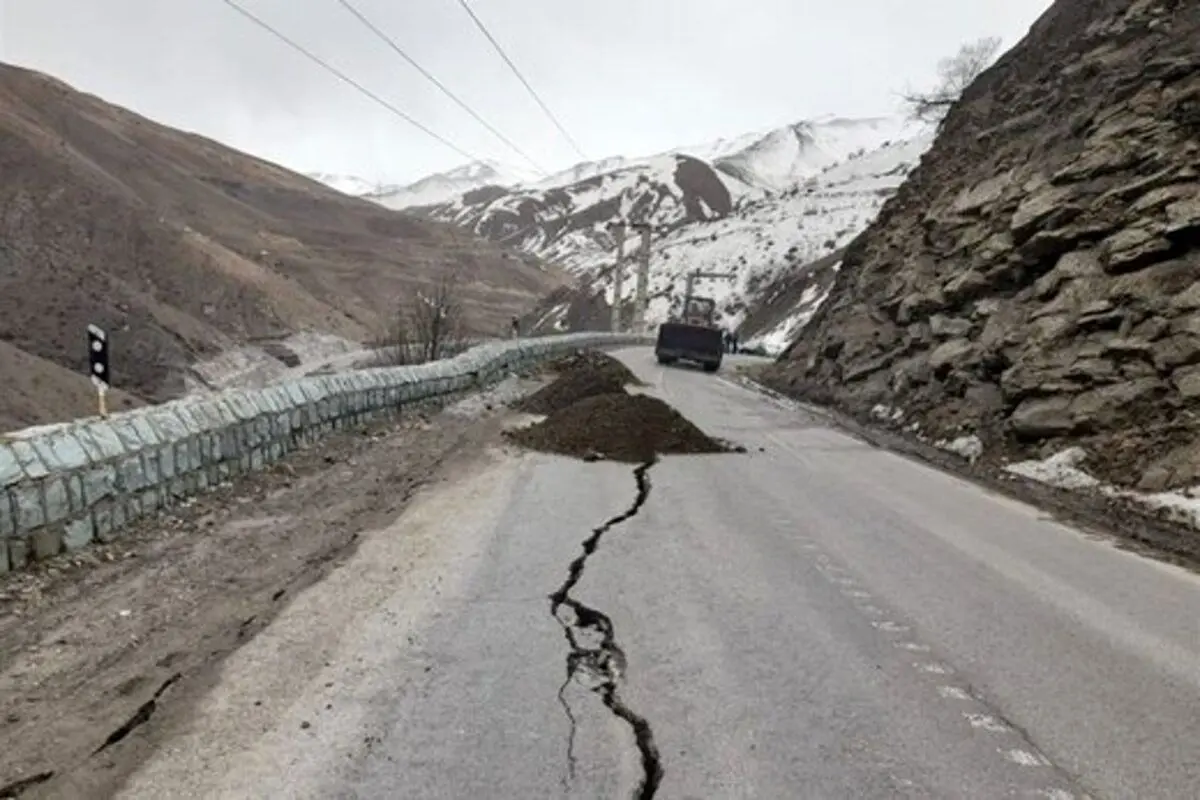
[[[311,375],[0,435],[0,573],[113,541],[128,523],[332,431],[480,389],[577,348],[647,343],[613,333],[490,342],[414,367]]]

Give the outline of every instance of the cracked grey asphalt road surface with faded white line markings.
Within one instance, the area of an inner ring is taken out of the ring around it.
[[[622,355],[749,452],[641,483],[490,456],[238,651],[124,796],[1200,796],[1200,579]]]

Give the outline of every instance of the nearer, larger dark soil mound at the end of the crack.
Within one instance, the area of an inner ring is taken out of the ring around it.
[[[728,451],[662,401],[625,391],[587,397],[508,437],[530,450],[630,463]]]

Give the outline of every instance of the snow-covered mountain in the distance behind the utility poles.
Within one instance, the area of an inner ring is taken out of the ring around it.
[[[595,315],[612,302],[616,245],[608,225],[649,222],[655,228],[652,323],[671,313],[688,272],[732,272],[732,279],[701,281],[696,288],[718,301],[722,325],[746,320],[757,326],[743,331],[743,341],[752,337],[779,349],[799,332],[805,309],[811,315],[823,299],[836,272],[830,254],[871,222],[931,140],[929,130],[898,118],[823,118],[649,157],[586,162],[527,182],[504,185],[490,173],[481,179],[463,174],[454,180],[469,187],[432,205],[401,206],[379,192],[368,197],[452,222],[576,273],[588,301],[548,300],[532,320],[540,330],[605,325],[606,319],[580,318],[577,309],[587,307]],[[498,167],[494,172],[514,178]],[[427,186],[449,190],[454,180],[445,181],[446,175],[451,173],[426,179]],[[431,188],[421,197],[436,194]],[[640,239],[630,236],[630,263],[638,247]],[[623,303],[635,290],[626,269]],[[808,282],[794,279],[810,272]],[[785,285],[800,288],[780,288]],[[784,307],[793,295],[796,307]],[[764,302],[770,313],[757,313]]]

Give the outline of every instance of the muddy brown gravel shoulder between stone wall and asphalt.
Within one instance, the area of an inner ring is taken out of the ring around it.
[[[499,441],[510,379],[328,438],[119,541],[0,581],[0,798],[110,796],[304,588]]]

